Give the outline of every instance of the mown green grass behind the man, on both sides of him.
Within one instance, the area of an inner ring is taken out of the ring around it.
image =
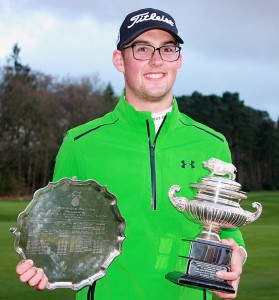
[[[241,206],[252,212],[255,201],[262,203],[263,214],[255,223],[242,227],[248,260],[237,299],[279,299],[279,192],[250,193]],[[27,204],[27,201],[0,201],[0,299],[75,299],[72,290],[36,292],[18,280],[15,266],[19,257],[14,251],[14,236],[9,233],[9,228],[15,227],[18,214]]]

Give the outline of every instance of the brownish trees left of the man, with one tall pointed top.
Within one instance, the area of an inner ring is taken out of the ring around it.
[[[0,194],[33,193],[52,178],[55,156],[69,128],[112,110],[110,84],[95,77],[66,78],[21,63],[16,44],[0,69]]]

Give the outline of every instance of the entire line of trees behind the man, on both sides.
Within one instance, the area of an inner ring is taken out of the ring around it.
[[[0,67],[0,196],[32,194],[52,178],[68,129],[111,111],[118,100],[97,76],[56,79],[21,63],[15,45]],[[237,93],[177,97],[180,110],[223,133],[246,190],[279,189],[278,123]]]

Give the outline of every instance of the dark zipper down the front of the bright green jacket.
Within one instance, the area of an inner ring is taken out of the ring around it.
[[[167,115],[164,117],[163,122],[161,126],[159,127],[154,143],[152,144],[151,136],[150,136],[150,126],[148,120],[146,120],[146,128],[147,128],[147,137],[148,137],[148,145],[149,145],[149,156],[150,156],[150,171],[151,171],[151,209],[156,210],[157,209],[157,197],[156,197],[156,165],[155,165],[155,147],[156,147],[156,141],[159,136],[159,133],[161,131],[161,128],[163,127],[163,124],[165,123],[165,120],[167,118]]]

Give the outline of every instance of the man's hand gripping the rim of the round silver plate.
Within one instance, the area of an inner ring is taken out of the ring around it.
[[[26,282],[35,290],[41,291],[46,288],[48,278],[43,269],[34,267],[34,262],[30,259],[22,260],[16,266],[16,272],[21,282]]]

